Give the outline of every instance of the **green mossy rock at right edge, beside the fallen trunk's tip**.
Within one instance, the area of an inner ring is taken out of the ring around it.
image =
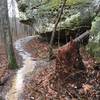
[[[100,62],[100,17],[92,22],[90,42],[87,50]]]

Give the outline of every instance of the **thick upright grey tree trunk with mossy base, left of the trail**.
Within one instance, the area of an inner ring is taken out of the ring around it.
[[[10,23],[8,17],[8,6],[7,0],[0,0],[0,18],[3,20],[2,27],[3,27],[3,37],[4,37],[4,44],[7,51],[7,57],[9,62],[9,68],[15,69],[17,68],[17,63],[15,59],[13,43],[12,43],[12,36],[10,32]]]

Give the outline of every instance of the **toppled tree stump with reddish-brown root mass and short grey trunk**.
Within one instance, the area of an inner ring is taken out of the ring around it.
[[[61,73],[61,69],[67,70],[66,66],[73,66],[73,68],[85,69],[85,66],[82,62],[82,57],[79,52],[78,43],[82,41],[82,39],[90,34],[89,31],[86,31],[79,37],[70,41],[66,45],[59,47],[54,53],[56,59],[56,70]],[[62,67],[63,66],[63,67]],[[63,73],[63,72],[62,72]]]

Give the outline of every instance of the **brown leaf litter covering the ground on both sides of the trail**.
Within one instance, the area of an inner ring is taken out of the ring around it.
[[[26,50],[34,58],[44,59],[48,55],[47,45],[43,41],[32,40],[26,45]],[[38,74],[26,76],[24,100],[100,100],[100,65],[95,65],[95,59],[84,48],[80,51],[86,70],[67,66],[66,76],[59,76],[55,70],[56,61],[52,60],[49,67]],[[0,92],[12,74],[3,45],[0,45]]]

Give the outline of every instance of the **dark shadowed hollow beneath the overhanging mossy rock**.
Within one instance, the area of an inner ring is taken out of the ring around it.
[[[55,34],[54,34],[53,43],[55,44],[59,40],[60,43],[65,44],[66,42],[70,41],[70,37],[75,39],[76,38],[76,33],[78,33],[78,35],[81,35],[84,32],[86,32],[86,30],[89,30],[90,27],[91,26],[80,26],[80,27],[77,27],[77,28],[75,28],[73,30],[70,30],[70,29],[56,30]],[[41,33],[40,35],[42,36],[43,39],[45,39],[46,41],[50,42],[52,31],[46,32],[46,33]],[[88,41],[88,38],[87,38],[87,41]]]

